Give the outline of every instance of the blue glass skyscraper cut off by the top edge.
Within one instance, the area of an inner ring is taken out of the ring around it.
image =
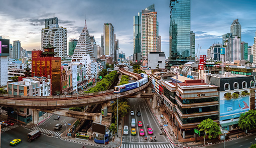
[[[190,0],[170,0],[170,57],[190,57]]]

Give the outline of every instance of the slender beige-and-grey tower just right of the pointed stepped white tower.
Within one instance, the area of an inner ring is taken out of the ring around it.
[[[105,23],[103,27],[103,50],[106,56],[111,56],[114,61],[114,27],[111,23]]]

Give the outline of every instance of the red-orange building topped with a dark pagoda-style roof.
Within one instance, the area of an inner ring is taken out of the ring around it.
[[[51,79],[51,95],[61,91],[61,58],[50,43],[43,47],[44,51],[32,51],[32,77],[45,77]]]

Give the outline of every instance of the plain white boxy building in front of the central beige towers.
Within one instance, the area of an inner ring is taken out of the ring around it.
[[[148,55],[148,68],[165,68],[165,53],[164,52],[150,52]]]

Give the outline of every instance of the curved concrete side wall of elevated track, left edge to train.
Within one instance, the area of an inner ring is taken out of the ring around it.
[[[102,102],[107,102],[111,101],[113,99],[116,99],[117,97],[124,97],[130,94],[134,94],[144,88],[146,88],[149,85],[149,82],[139,88],[132,89],[129,91],[125,91],[124,93],[116,93],[116,94],[111,94],[107,96],[91,96],[88,98],[79,98],[79,99],[70,99],[70,100],[54,100],[55,97],[61,97],[61,96],[47,96],[47,97],[52,97],[52,100],[16,100],[16,99],[8,99],[8,98],[1,98],[0,99],[0,104],[3,105],[13,105],[13,106],[24,106],[28,108],[40,108],[40,107],[55,107],[55,108],[61,108],[65,106],[78,106],[78,105],[86,105],[90,103],[102,103]],[[106,92],[111,92],[111,91],[106,91]],[[104,93],[104,92],[102,92]],[[12,97],[27,97],[27,96],[15,96],[15,95],[8,95]],[[67,95],[68,96],[68,95]],[[61,98],[67,97],[63,96]],[[70,95],[74,96],[74,95]],[[31,96],[30,96],[31,97]],[[33,98],[40,98],[40,97],[33,97]]]

